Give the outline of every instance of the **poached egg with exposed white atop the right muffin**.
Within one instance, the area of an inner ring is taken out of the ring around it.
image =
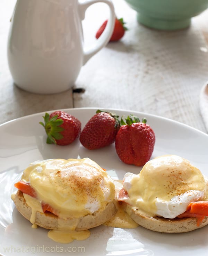
[[[163,155],[148,161],[139,174],[123,179],[125,202],[149,216],[175,218],[190,202],[207,200],[207,184],[201,171],[187,159]]]

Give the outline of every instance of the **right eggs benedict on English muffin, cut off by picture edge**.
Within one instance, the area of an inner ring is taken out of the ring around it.
[[[208,209],[207,200],[206,178],[176,155],[148,161],[138,175],[126,173],[119,194],[122,207],[135,222],[168,233],[207,225],[208,210],[201,210],[205,205]]]

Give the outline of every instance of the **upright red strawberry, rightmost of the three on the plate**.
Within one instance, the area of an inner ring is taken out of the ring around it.
[[[142,166],[151,157],[155,145],[155,133],[134,115],[127,117],[126,123],[121,119],[121,127],[115,138],[116,152],[124,163]]]

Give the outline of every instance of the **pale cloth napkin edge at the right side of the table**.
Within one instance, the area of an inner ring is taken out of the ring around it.
[[[208,132],[208,82],[201,89],[199,95],[199,107]]]

